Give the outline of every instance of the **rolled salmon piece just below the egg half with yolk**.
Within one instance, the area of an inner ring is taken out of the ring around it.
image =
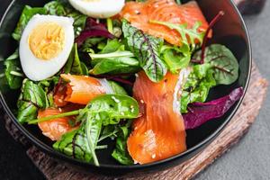
[[[105,79],[91,76],[75,76],[62,74],[67,85],[61,86],[54,95],[54,102],[60,107],[69,103],[87,104],[101,94],[112,94],[112,87]]]

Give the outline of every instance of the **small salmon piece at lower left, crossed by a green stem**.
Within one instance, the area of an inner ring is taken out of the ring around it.
[[[73,108],[74,109],[74,108]],[[38,118],[48,117],[51,115],[57,115],[59,113],[65,112],[59,111],[58,109],[49,108],[44,111],[40,111]],[[51,140],[61,139],[62,135],[66,134],[68,131],[76,130],[77,127],[71,127],[68,123],[69,120],[74,120],[74,117],[64,117],[58,118],[50,121],[39,122],[38,125],[42,134]]]

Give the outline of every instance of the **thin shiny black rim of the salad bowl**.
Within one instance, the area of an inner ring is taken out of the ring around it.
[[[16,0],[12,0],[12,2],[6,8],[6,10],[5,10],[5,12],[4,12],[3,16],[2,16],[2,19],[0,21],[0,28],[1,28],[2,24],[4,23],[4,19],[5,19],[6,14],[9,13],[9,11],[12,8],[12,6],[14,5],[15,1]],[[225,126],[229,123],[229,121],[231,121],[231,119],[233,118],[235,113],[238,111],[238,108],[239,108],[240,104],[243,102],[244,97],[246,96],[247,87],[248,87],[249,82],[250,82],[251,69],[252,69],[251,40],[250,40],[248,31],[247,31],[247,25],[244,22],[244,19],[243,19],[242,15],[239,13],[239,10],[238,10],[236,4],[234,4],[232,0],[229,0],[229,3],[233,7],[234,11],[238,14],[238,19],[239,19],[239,21],[241,23],[241,26],[242,26],[243,30],[245,31],[245,36],[247,38],[247,53],[248,53],[247,58],[248,58],[249,67],[248,67],[246,85],[244,86],[244,94],[240,98],[240,100],[238,100],[238,103],[236,103],[236,105],[234,106],[234,109],[232,110],[232,112],[229,114],[229,116],[226,118],[226,120],[220,125],[220,127],[217,130],[214,130],[214,132],[212,132],[209,137],[207,137],[206,139],[203,139],[200,143],[196,144],[192,148],[188,148],[183,153],[177,154],[177,155],[175,155],[173,157],[168,157],[168,158],[163,159],[163,160],[159,160],[157,162],[145,164],[145,165],[122,166],[122,165],[104,165],[104,164],[101,164],[100,166],[94,166],[93,164],[85,163],[85,162],[79,161],[79,160],[77,160],[75,158],[72,158],[72,157],[67,157],[66,155],[64,155],[62,153],[59,153],[58,151],[56,151],[53,148],[46,145],[40,139],[37,139],[35,136],[33,136],[28,130],[26,130],[23,127],[23,125],[21,125],[16,120],[16,117],[14,116],[14,113],[11,111],[11,109],[8,107],[8,105],[5,103],[4,96],[3,96],[2,92],[0,91],[0,102],[3,105],[4,111],[6,112],[8,117],[14,122],[16,128],[18,128],[21,132],[23,132],[23,135],[27,139],[30,139],[31,143],[33,143],[36,147],[40,148],[43,152],[48,153],[49,156],[56,157],[56,158],[58,158],[60,160],[64,160],[66,162],[69,162],[69,163],[77,165],[77,166],[89,166],[89,167],[94,167],[94,168],[110,168],[110,169],[122,169],[122,170],[123,169],[136,170],[136,169],[144,169],[144,168],[148,168],[148,167],[163,165],[163,164],[169,163],[171,161],[175,161],[175,160],[177,160],[179,158],[185,157],[185,156],[187,156],[189,154],[192,154],[196,149],[202,148],[202,147],[208,145],[209,143],[211,143],[211,141],[213,139],[215,139],[215,137],[218,136],[220,134],[220,132],[225,128]]]

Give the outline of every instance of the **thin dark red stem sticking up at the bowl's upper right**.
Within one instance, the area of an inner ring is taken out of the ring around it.
[[[224,15],[225,13],[223,11],[220,11],[219,14],[217,14],[212,20],[211,23],[209,24],[209,27],[207,28],[205,35],[203,37],[203,41],[202,41],[202,54],[201,54],[201,61],[200,63],[203,64],[204,63],[204,57],[205,57],[205,48],[206,48],[206,44],[208,41],[208,35],[211,31],[211,29],[213,28],[213,26],[218,23],[220,21],[220,18]]]

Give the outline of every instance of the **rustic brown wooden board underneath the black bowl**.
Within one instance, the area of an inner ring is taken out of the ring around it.
[[[145,176],[136,175],[136,177],[125,177],[125,179],[191,179],[194,175],[200,173],[207,166],[210,166],[224,152],[228,151],[232,145],[243,137],[251,124],[256,120],[257,114],[266,98],[267,81],[264,79],[256,66],[252,68],[252,76],[247,94],[243,103],[238,109],[237,114],[229,122],[225,130],[200,154],[178,166],[166,169],[165,171],[149,174]],[[27,139],[17,130],[12,121],[5,116],[5,127],[13,135],[14,139],[23,142],[29,146]],[[38,148],[31,146],[27,150],[28,156],[32,162],[40,169],[43,175],[48,179],[55,180],[91,180],[91,179],[112,179],[102,175],[85,175],[77,172],[68,165],[58,163],[52,157],[41,152]]]

